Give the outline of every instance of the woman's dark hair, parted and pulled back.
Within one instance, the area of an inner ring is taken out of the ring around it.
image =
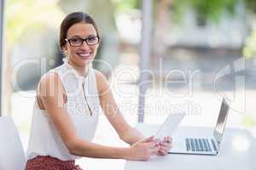
[[[99,37],[99,32],[96,26],[95,21],[90,17],[89,14],[85,14],[83,12],[74,12],[71,14],[67,14],[66,18],[61,22],[60,29],[60,46],[62,47],[66,44],[65,38],[67,37],[68,29],[77,24],[79,22],[84,22],[87,24],[91,24],[96,29],[97,36]]]

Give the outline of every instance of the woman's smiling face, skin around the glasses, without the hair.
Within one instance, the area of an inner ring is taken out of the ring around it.
[[[74,24],[67,31],[67,39],[96,36],[97,33],[95,27],[84,22]],[[73,39],[73,41],[76,41],[76,39]],[[88,45],[84,41],[81,46],[73,47],[69,42],[67,42],[64,46],[64,50],[66,50],[70,62],[72,62],[74,65],[85,67],[95,58],[98,46],[98,43],[95,45]]]

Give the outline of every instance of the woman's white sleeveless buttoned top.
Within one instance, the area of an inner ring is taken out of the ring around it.
[[[76,133],[81,139],[91,141],[96,132],[100,111],[94,69],[89,65],[87,76],[81,77],[66,60],[63,65],[51,71],[61,78],[67,94],[65,107]],[[79,158],[71,155],[67,150],[47,111],[39,109],[37,99],[34,103],[32,128],[26,154],[27,159],[36,156],[53,156],[62,161]]]

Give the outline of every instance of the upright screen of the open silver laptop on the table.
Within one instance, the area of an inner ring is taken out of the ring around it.
[[[215,139],[218,141],[218,144],[220,143],[223,133],[224,133],[224,128],[225,128],[225,124],[227,121],[227,116],[228,116],[229,110],[230,110],[230,106],[228,105],[226,100],[223,99],[221,107],[220,107],[220,111],[218,114],[218,121],[217,121],[216,127],[214,129],[214,133],[213,133]]]

